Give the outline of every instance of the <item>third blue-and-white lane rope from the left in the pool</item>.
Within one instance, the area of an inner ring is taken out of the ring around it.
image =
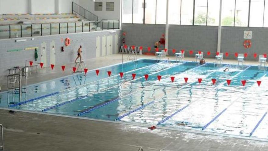
[[[200,66],[198,66],[198,67],[194,67],[194,68],[192,68],[192,69],[190,69],[190,70],[187,70],[187,71],[185,71],[185,72],[189,72],[189,71],[191,71],[191,70],[194,70],[194,69],[196,69],[196,68],[202,67],[202,66],[204,66],[204,65],[205,65],[205,64],[200,65]],[[184,72],[182,72],[182,73],[184,73]],[[182,74],[182,73],[179,73],[179,74]],[[179,74],[178,74],[178,75],[179,75]],[[168,75],[166,75],[166,76],[168,76]],[[165,76],[164,76],[164,77],[165,77]],[[134,94],[134,93],[141,92],[141,91],[143,91],[144,89],[146,89],[146,88],[150,88],[150,87],[152,87],[152,86],[154,86],[154,85],[156,85],[156,84],[158,84],[158,82],[156,82],[156,83],[154,83],[154,84],[151,84],[151,85],[149,85],[149,86],[147,86],[147,87],[144,87],[144,88],[142,88],[142,89],[140,89],[140,90],[137,90],[137,91],[135,91],[135,92],[129,93],[129,94],[127,94],[127,95],[124,95],[124,96],[122,96],[122,97],[119,97],[118,99],[116,99],[116,101],[117,101],[117,100],[120,100],[120,99],[122,99],[122,98],[125,98],[125,97],[127,97],[127,96],[129,96],[129,95],[132,95],[132,94]],[[174,85],[175,85],[175,84],[174,84]],[[111,100],[111,101],[107,102],[106,105],[110,104],[111,102],[115,102],[115,101],[114,101],[114,100]],[[148,105],[150,105],[150,104],[152,104],[153,102],[154,102],[154,101],[145,104],[144,107],[145,107],[145,106],[148,106]],[[104,105],[104,106],[106,106],[106,105]],[[103,106],[100,106],[100,107],[103,107]],[[95,108],[95,109],[93,109],[93,110],[96,110],[96,109],[98,109],[98,108],[100,108],[100,107],[97,107],[97,108]],[[92,112],[93,110],[91,110],[91,109],[85,110],[84,112],[81,112],[81,113],[77,114],[76,116],[81,116],[81,115],[83,115],[83,114],[90,113],[90,112]]]

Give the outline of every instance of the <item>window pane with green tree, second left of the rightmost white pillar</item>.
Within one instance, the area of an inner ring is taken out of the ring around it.
[[[206,25],[207,0],[195,1],[195,25]]]

